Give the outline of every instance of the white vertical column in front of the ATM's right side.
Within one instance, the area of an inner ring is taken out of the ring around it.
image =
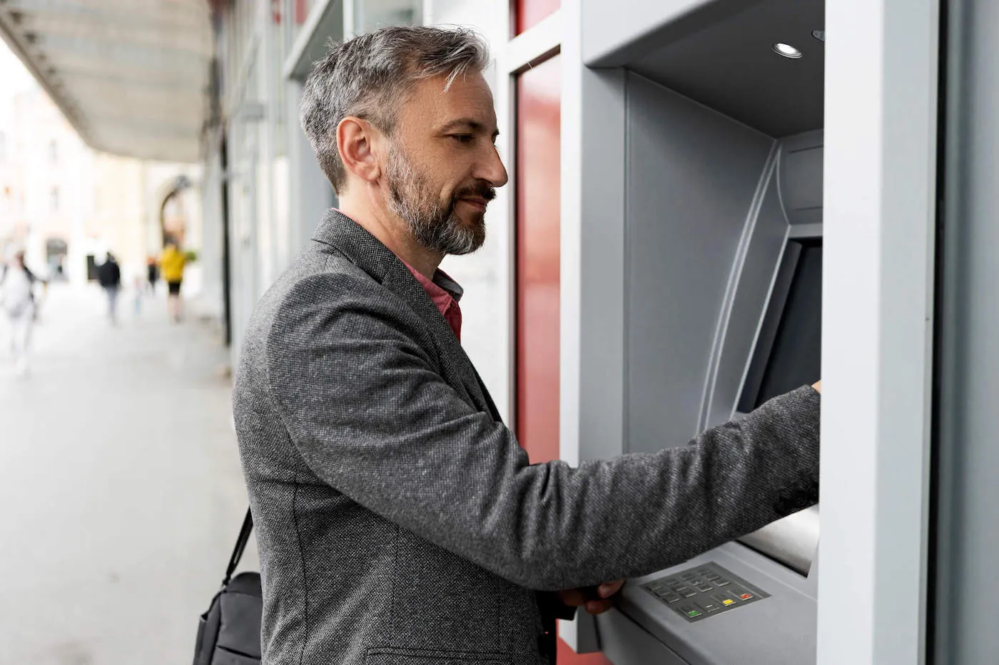
[[[826,5],[819,665],[923,661],[938,5]]]

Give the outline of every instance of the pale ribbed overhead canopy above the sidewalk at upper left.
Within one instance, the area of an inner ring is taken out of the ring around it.
[[[205,0],[0,0],[0,34],[92,148],[199,160],[212,59]]]

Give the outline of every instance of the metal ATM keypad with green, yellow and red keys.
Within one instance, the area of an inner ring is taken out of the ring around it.
[[[716,563],[652,580],[642,588],[691,623],[769,597]]]

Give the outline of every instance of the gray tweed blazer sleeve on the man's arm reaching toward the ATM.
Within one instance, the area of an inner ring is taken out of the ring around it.
[[[517,584],[557,590],[647,574],[818,500],[810,387],[687,446],[529,464],[509,429],[442,378],[424,334],[375,283],[305,279],[268,337],[272,399],[325,482]]]

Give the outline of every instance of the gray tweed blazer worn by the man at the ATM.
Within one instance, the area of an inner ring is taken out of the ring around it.
[[[809,387],[689,446],[528,464],[420,284],[336,211],[258,305],[233,407],[267,665],[550,662],[543,592],[665,568],[818,494]]]

